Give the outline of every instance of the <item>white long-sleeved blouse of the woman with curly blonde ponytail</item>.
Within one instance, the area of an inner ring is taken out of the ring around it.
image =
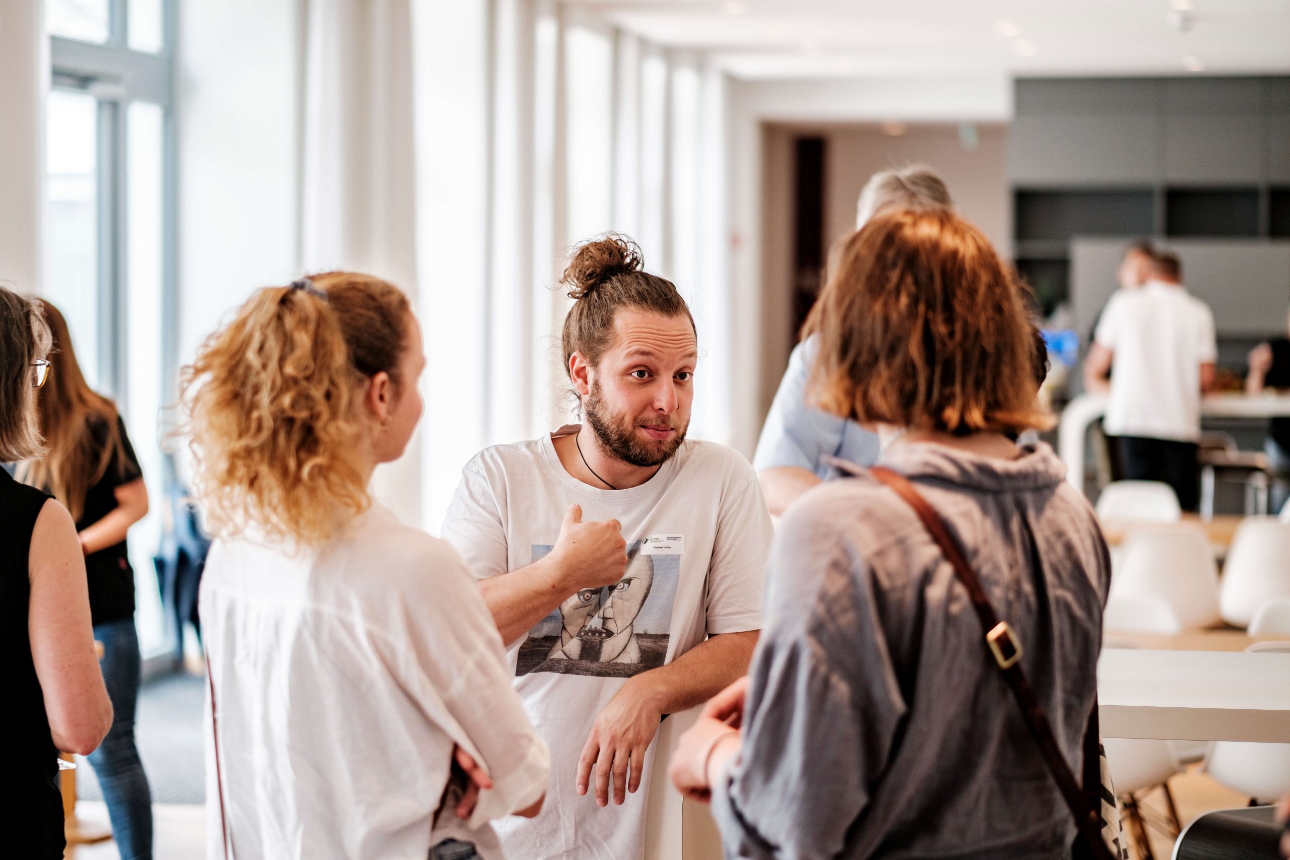
[[[479,584],[379,505],[316,549],[217,540],[201,623],[219,728],[217,770],[208,703],[212,860],[226,823],[227,856],[426,860],[455,837],[498,860],[489,819],[547,788]],[[445,808],[432,828],[454,743],[494,788],[468,823]]]

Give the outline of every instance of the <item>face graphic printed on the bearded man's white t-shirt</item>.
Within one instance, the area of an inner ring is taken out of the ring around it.
[[[535,544],[533,560],[551,552]],[[613,585],[575,592],[520,646],[516,674],[557,672],[631,677],[663,665],[680,556],[627,553],[627,572]]]

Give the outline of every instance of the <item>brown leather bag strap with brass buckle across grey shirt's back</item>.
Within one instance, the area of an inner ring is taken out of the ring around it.
[[[1075,780],[1075,774],[1071,772],[1071,766],[1058,747],[1047,714],[1035,695],[1035,687],[1031,686],[1024,669],[1022,669],[1022,646],[1017,641],[1017,634],[1006,621],[998,620],[998,615],[995,614],[995,607],[991,605],[989,598],[986,596],[986,589],[980,584],[980,578],[977,576],[977,571],[968,563],[958,544],[946,527],[944,520],[940,518],[940,514],[922,498],[922,494],[913,489],[913,485],[903,474],[898,474],[884,465],[875,465],[869,469],[869,474],[890,487],[913,509],[933,542],[935,542],[940,552],[949,561],[949,566],[953,567],[958,581],[968,589],[973,609],[977,612],[978,620],[980,620],[982,629],[986,632],[986,645],[1002,670],[1004,681],[1007,683],[1009,690],[1013,691],[1013,698],[1017,699],[1017,704],[1022,709],[1026,727],[1035,739],[1049,772],[1053,774],[1053,781],[1057,783],[1062,797],[1066,799],[1066,805],[1071,810],[1071,815],[1075,816],[1075,823],[1080,828],[1080,836],[1086,842],[1086,848],[1099,860],[1113,860],[1107,843],[1102,839],[1102,807],[1100,805],[1089,805],[1080,784]],[[1096,714],[1096,704],[1094,704],[1094,714]],[[1087,767],[1087,732],[1084,745],[1084,765]],[[1098,783],[1100,785],[1100,776],[1098,777]]]

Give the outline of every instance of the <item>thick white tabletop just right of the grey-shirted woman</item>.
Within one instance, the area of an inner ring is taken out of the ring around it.
[[[1290,744],[1290,654],[1103,649],[1104,738]]]

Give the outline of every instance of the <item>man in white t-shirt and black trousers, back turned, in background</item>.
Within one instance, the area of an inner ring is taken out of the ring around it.
[[[1214,313],[1183,286],[1178,258],[1157,254],[1146,284],[1112,295],[1093,339],[1085,387],[1109,392],[1102,424],[1118,477],[1164,481],[1195,511],[1201,396],[1214,384],[1218,346]]]

